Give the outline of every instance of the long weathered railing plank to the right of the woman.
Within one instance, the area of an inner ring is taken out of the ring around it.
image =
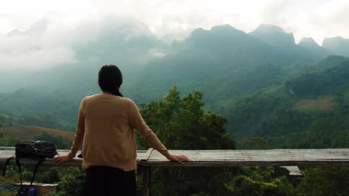
[[[349,165],[349,149],[171,150],[190,161],[166,160],[158,151],[142,161],[149,166]]]

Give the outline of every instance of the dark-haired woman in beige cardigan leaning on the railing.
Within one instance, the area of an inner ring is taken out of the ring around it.
[[[57,164],[70,161],[83,145],[84,195],[136,195],[134,128],[167,159],[180,163],[189,160],[167,151],[143,121],[136,104],[121,95],[121,84],[122,75],[115,65],[105,65],[99,70],[102,93],[81,101],[70,153],[55,157]]]

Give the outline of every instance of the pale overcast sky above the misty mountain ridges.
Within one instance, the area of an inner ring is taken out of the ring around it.
[[[197,27],[210,29],[218,24],[230,24],[248,33],[260,23],[270,23],[292,32],[296,43],[302,37],[313,37],[319,44],[327,37],[349,38],[347,0],[0,0],[0,5],[0,68],[5,64],[18,66],[23,60],[34,62],[34,67],[73,62],[69,44],[93,36],[101,23],[108,25],[106,16],[119,22],[143,22],[160,37],[171,34],[181,38]],[[30,39],[5,36],[13,29],[26,31],[42,18],[50,21],[51,28],[44,35]],[[63,32],[79,32],[83,27],[92,35],[75,33],[68,41],[63,39]],[[41,50],[28,54],[37,45]],[[58,58],[59,53],[65,58]]]

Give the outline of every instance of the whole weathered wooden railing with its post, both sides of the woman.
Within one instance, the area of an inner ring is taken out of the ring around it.
[[[68,150],[59,150],[67,154]],[[151,166],[241,166],[241,165],[349,165],[349,149],[275,149],[275,150],[170,150],[173,154],[186,155],[190,161],[179,164],[171,162],[153,149],[137,151],[138,175],[142,176],[143,195],[149,195],[148,183]],[[14,156],[14,148],[0,147],[0,164]],[[34,165],[37,161],[21,159],[23,165]],[[82,159],[74,158],[61,166],[81,166]],[[15,160],[9,164],[15,165]],[[43,165],[56,166],[53,159],[46,159]]]

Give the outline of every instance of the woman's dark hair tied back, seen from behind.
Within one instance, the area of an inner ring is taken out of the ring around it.
[[[123,97],[119,92],[122,84],[122,74],[115,65],[105,65],[98,72],[98,85],[104,92]]]

